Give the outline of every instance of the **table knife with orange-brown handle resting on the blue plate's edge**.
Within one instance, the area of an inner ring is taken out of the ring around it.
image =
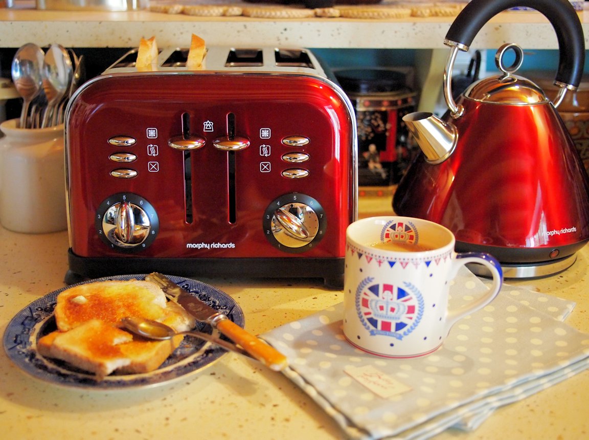
[[[257,336],[252,335],[252,333],[247,332],[247,330],[231,321],[226,315],[213,309],[213,307],[202,302],[196,296],[190,295],[190,293],[186,292],[186,290],[168,279],[165,275],[154,272],[145,276],[145,280],[160,286],[168,299],[184,307],[198,321],[206,322],[216,327],[219,332],[240,345],[241,348],[270,369],[280,371],[288,365],[286,356],[278,350],[268,345],[262,339],[257,338]]]

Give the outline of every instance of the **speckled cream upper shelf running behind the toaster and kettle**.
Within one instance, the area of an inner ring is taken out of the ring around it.
[[[589,11],[581,11],[578,15],[587,44]],[[152,35],[157,38],[159,47],[187,47],[194,33],[204,38],[207,45],[239,42],[243,47],[270,44],[309,48],[447,49],[444,38],[452,21],[452,16],[266,19],[148,11],[0,9],[0,47],[16,48],[28,41],[39,45],[59,42],[65,47],[136,47],[141,37]],[[558,48],[552,26],[538,12],[498,14],[478,32],[472,47],[495,49],[505,42],[517,42],[525,49]]]

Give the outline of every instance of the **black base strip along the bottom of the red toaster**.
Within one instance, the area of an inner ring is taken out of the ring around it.
[[[65,283],[106,276],[161,272],[186,277],[323,278],[343,289],[344,258],[137,258],[81,257],[68,250]]]

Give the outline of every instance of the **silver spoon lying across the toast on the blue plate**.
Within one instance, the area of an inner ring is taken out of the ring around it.
[[[135,333],[135,335],[143,336],[144,338],[166,340],[171,339],[176,335],[188,335],[193,336],[194,338],[206,340],[213,343],[214,345],[220,346],[221,348],[253,359],[252,356],[250,356],[245,350],[239,348],[237,345],[217,338],[216,336],[210,335],[209,333],[197,332],[195,330],[190,330],[188,332],[177,332],[172,327],[167,326],[164,323],[151,319],[141,319],[129,316],[121,319],[121,323],[123,323],[125,329],[130,330],[131,332]]]

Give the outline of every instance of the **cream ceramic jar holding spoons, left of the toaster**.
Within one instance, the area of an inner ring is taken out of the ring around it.
[[[67,229],[64,180],[64,125],[0,130],[0,223],[22,233]]]

